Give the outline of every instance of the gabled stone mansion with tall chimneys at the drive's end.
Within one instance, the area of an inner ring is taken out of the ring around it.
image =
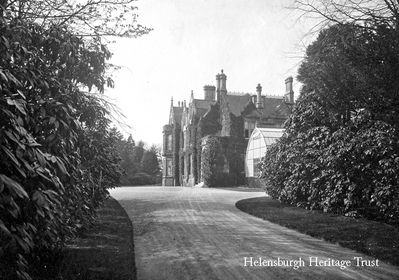
[[[191,98],[188,104],[170,105],[169,121],[163,126],[163,186],[194,186],[202,182],[201,151],[209,137],[222,146],[220,168],[229,185],[245,183],[245,152],[255,127],[281,128],[294,104],[292,77],[285,80],[284,96],[227,91],[223,70],[216,86],[204,86],[204,98]]]

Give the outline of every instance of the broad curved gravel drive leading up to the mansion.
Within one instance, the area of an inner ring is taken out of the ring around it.
[[[252,217],[235,202],[264,195],[223,189],[130,187],[111,191],[134,227],[139,280],[399,279],[399,268],[309,266],[319,260],[367,257]],[[304,266],[250,266],[255,260],[298,260]],[[244,260],[247,258],[247,266]]]

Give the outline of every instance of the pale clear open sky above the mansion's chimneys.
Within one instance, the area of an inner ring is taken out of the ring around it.
[[[203,99],[221,69],[227,90],[283,95],[295,77],[309,23],[287,9],[294,0],[138,0],[138,22],[153,28],[110,45],[115,87],[106,94],[125,115],[124,135],[147,145],[162,143],[162,127],[174,104]]]

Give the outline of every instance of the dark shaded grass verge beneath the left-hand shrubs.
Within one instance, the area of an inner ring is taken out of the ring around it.
[[[113,198],[98,210],[92,227],[51,257],[41,263],[34,279],[136,280],[132,224]]]

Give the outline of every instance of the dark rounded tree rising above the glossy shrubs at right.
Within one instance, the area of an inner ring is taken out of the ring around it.
[[[365,30],[334,25],[320,32],[298,70],[301,94],[315,92],[326,118],[345,123],[366,110],[374,120],[399,127],[399,37],[386,26]]]

